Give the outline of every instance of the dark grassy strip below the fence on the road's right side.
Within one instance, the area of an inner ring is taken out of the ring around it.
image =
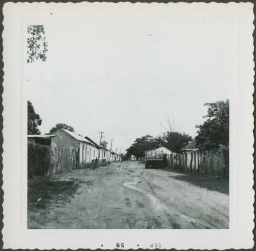
[[[212,178],[209,179],[208,175],[204,174],[190,174],[172,177],[177,180],[189,182],[193,185],[198,185],[211,191],[218,191],[223,194],[229,194],[229,180],[228,178]]]

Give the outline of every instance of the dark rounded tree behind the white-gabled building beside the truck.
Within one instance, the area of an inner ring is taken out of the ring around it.
[[[163,146],[172,150],[175,153],[179,153],[182,148],[192,140],[192,137],[186,133],[180,132],[167,132],[164,133]]]

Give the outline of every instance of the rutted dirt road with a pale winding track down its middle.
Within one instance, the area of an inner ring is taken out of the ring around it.
[[[41,201],[44,208],[29,207],[28,228],[228,228],[228,195],[178,175],[135,161],[55,175],[74,180],[77,189]]]

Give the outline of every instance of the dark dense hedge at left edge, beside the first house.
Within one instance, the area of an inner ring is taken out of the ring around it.
[[[28,143],[28,178],[45,176],[50,168],[50,147]]]

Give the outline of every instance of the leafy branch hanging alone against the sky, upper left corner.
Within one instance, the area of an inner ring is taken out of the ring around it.
[[[43,25],[28,25],[28,63],[47,59],[48,44]]]

